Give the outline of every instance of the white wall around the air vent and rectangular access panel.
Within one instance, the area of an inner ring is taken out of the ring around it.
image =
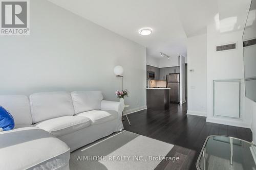
[[[213,116],[213,80],[242,79],[243,69],[243,31],[220,33],[216,25],[207,26],[207,122],[232,126],[250,127],[251,114],[248,99],[245,98],[244,82],[242,81],[242,119],[216,118]],[[216,45],[237,43],[236,50],[216,52]]]

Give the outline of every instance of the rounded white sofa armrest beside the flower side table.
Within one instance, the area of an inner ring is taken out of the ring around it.
[[[118,112],[118,115],[121,117],[122,112],[124,109],[124,104],[120,102],[113,102],[113,101],[101,101],[101,109],[102,110],[115,110]]]

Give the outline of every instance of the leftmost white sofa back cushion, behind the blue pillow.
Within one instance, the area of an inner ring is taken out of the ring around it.
[[[15,125],[32,124],[29,99],[26,95],[0,95],[0,106],[10,112]]]

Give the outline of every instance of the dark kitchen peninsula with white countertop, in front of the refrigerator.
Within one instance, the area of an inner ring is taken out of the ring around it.
[[[146,88],[147,109],[168,110],[170,106],[170,88]]]

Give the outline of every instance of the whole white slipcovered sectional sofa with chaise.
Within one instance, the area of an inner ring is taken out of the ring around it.
[[[0,105],[15,120],[0,132],[0,169],[69,169],[70,152],[123,129],[124,105],[100,91],[0,95]]]

